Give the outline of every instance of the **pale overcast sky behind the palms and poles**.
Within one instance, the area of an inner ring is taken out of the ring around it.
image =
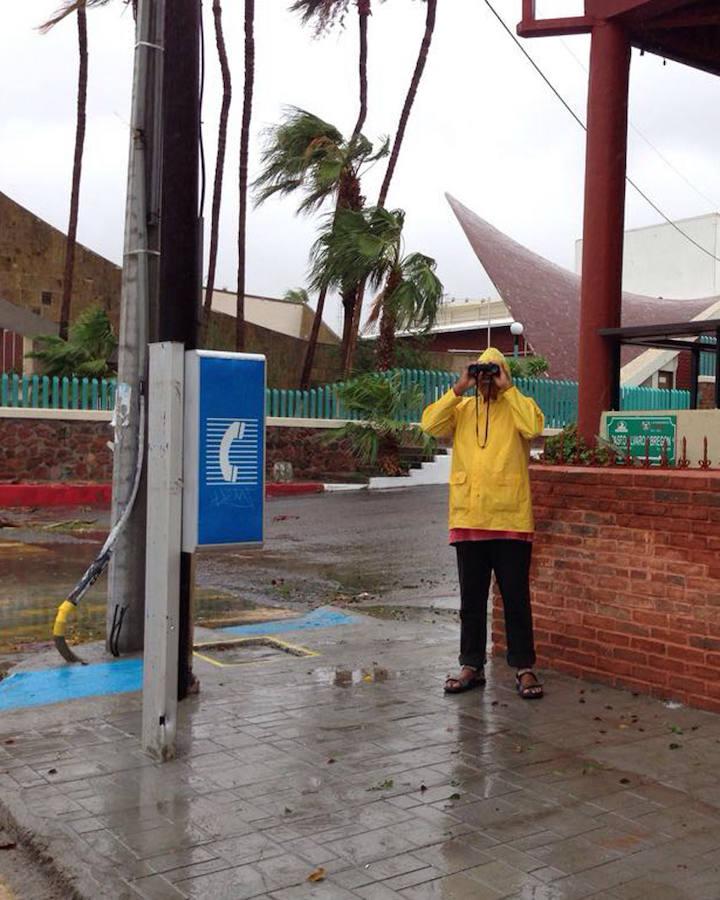
[[[574,0],[542,0],[550,15]],[[0,36],[0,190],[63,230],[67,227],[75,133],[77,29],[74,19],[50,34],[35,27],[57,0],[6,3]],[[311,110],[352,130],[357,116],[357,30],[315,39],[289,0],[256,4],[256,93],[251,175],[262,133],[283,107]],[[242,4],[224,4],[234,101],[226,168],[218,287],[236,283],[237,155],[242,105]],[[582,230],[584,133],[542,83],[483,0],[440,0],[425,76],[410,120],[388,204],[407,211],[406,245],[438,260],[448,294],[493,293],[444,194],[511,237],[573,268]],[[394,133],[422,37],[419,0],[374,0],[369,28],[371,139]],[[497,0],[513,28],[520,0]],[[120,262],[128,151],[133,22],[120,0],[88,13],[90,83],[79,240]],[[220,74],[210,0],[205,2],[207,88],[204,135],[208,178],[215,165]],[[525,46],[585,118],[589,40],[526,41]],[[673,217],[720,209],[720,78],[633,52],[629,174]],[[675,171],[676,170],[676,171]],[[377,196],[383,166],[364,184]],[[690,184],[688,184],[690,182]],[[207,216],[209,218],[209,195]],[[282,295],[302,286],[317,219],[296,217],[292,199],[270,201],[248,222],[249,293]],[[628,193],[628,227],[658,215]],[[699,251],[698,251],[699,252]],[[338,307],[328,320],[338,325]]]

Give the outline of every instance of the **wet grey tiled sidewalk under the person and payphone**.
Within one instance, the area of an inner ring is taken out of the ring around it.
[[[499,662],[444,697],[448,625],[295,639],[199,663],[162,766],[137,694],[3,714],[3,805],[92,900],[720,898],[719,717]]]

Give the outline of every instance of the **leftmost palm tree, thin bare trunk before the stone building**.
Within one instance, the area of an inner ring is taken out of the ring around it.
[[[68,220],[67,241],[65,244],[65,265],[63,269],[63,292],[60,303],[59,335],[65,340],[70,324],[72,303],[73,276],[75,272],[75,243],[80,209],[80,182],[82,180],[82,160],[85,146],[85,125],[87,121],[87,84],[88,84],[88,42],[87,42],[87,7],[105,6],[110,0],[68,0],[58,11],[40,26],[44,34],[54,28],[63,19],[75,13],[78,26],[78,67],[77,118],[75,125],[75,152],[73,156],[72,187],[70,190],[70,217]],[[135,9],[136,0],[124,0],[132,3]]]

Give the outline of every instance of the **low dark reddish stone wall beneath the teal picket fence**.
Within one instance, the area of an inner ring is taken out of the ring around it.
[[[329,473],[357,471],[347,444],[327,442],[317,428],[267,430],[267,471],[291,462],[295,477],[312,481]],[[0,418],[0,481],[90,481],[112,479],[107,422]]]

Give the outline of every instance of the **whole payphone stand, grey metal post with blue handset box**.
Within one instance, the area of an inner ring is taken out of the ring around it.
[[[142,746],[167,760],[192,659],[183,555],[263,541],[265,357],[151,344],[149,388]]]

